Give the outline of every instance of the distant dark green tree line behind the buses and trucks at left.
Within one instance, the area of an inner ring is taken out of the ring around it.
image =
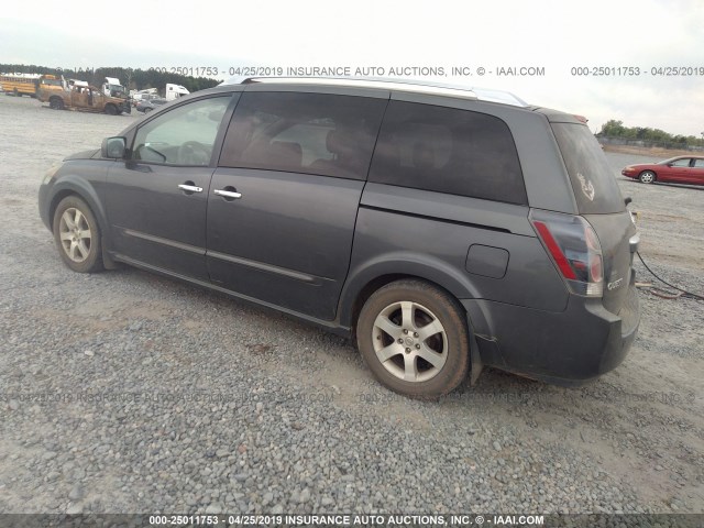
[[[158,72],[156,69],[140,68],[91,68],[91,69],[69,69],[69,68],[50,68],[47,66],[36,66],[26,64],[0,64],[0,72],[4,74],[52,74],[63,75],[66,79],[85,80],[90,85],[100,86],[105,82],[106,77],[117,77],[120,82],[129,90],[144,90],[147,88],[156,88],[161,94],[167,82],[180,85],[188,91],[198,91],[211,88],[220,84],[217,79],[208,77],[189,77],[178,74],[169,74]]]

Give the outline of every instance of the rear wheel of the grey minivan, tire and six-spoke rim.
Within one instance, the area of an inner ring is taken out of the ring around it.
[[[466,377],[470,345],[458,301],[413,279],[376,290],[356,327],[358,346],[374,376],[392,391],[437,398]]]

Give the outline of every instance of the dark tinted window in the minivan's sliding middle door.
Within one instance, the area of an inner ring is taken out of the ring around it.
[[[245,92],[220,165],[365,179],[385,99]]]

